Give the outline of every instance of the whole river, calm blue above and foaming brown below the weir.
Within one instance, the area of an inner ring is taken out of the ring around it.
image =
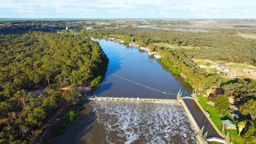
[[[147,52],[139,48],[118,42],[93,40],[100,43],[109,58],[105,79],[95,90],[97,96],[176,98],[174,94],[179,90],[182,90],[183,96],[191,95],[191,86],[180,75],[171,73],[167,66],[161,64],[160,59],[148,56]],[[209,137],[218,136],[194,100],[184,101],[198,125],[206,127],[204,133],[208,131]],[[185,110],[176,102],[95,101],[85,103],[77,113],[76,121],[69,124],[65,134],[49,143],[198,143],[196,131]]]

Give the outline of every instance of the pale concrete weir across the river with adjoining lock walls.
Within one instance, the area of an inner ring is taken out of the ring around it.
[[[123,97],[97,97],[97,96],[91,96],[88,97],[87,100],[119,100],[119,101],[146,101],[146,102],[179,102],[181,103],[181,105],[184,107],[184,110],[187,113],[188,118],[190,119],[192,125],[195,127],[195,130],[197,131],[197,140],[200,144],[207,144],[210,141],[217,141],[217,142],[221,142],[224,144],[230,144],[230,140],[225,140],[224,138],[206,138],[207,132],[206,134],[203,136],[202,135],[202,129],[200,129],[200,127],[198,126],[197,122],[195,121],[195,118],[193,117],[193,115],[191,114],[191,112],[189,111],[186,103],[184,102],[184,98],[190,98],[190,99],[194,99],[196,102],[198,101],[198,98],[195,94],[195,92],[193,92],[193,94],[191,94],[191,96],[182,96],[182,92],[178,92],[177,94],[177,99],[161,99],[161,98],[123,98]],[[197,102],[198,104],[198,102]],[[200,105],[200,104],[198,104]],[[201,106],[201,105],[200,105]],[[200,107],[202,109],[202,106]],[[202,109],[203,111],[203,109]],[[204,111],[203,111],[204,112]],[[204,113],[206,114],[206,113]],[[212,120],[210,120],[211,122]],[[217,126],[214,124],[214,122],[211,122],[211,124],[213,125],[213,127],[217,130],[217,132],[221,135],[220,130],[217,129]]]

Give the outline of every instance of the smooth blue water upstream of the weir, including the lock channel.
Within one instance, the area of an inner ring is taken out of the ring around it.
[[[139,48],[131,48],[116,44],[113,41],[99,41],[102,49],[109,57],[109,68],[106,78],[95,93],[98,96],[113,97],[141,97],[141,98],[176,98],[176,95],[163,94],[130,81],[117,78],[111,74],[130,79],[148,87],[164,92],[176,94],[180,89],[183,96],[190,96],[193,89],[185,83],[178,74],[170,72],[169,68],[161,64],[160,59],[149,56]],[[117,67],[115,67],[117,65]],[[208,123],[201,109],[194,100],[185,100],[191,113],[200,127],[205,126],[208,136],[217,136],[215,129]]]

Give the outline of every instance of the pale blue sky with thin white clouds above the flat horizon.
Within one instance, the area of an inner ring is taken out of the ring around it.
[[[256,18],[256,0],[0,0],[0,18]]]

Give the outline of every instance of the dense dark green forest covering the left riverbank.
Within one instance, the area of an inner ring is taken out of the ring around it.
[[[0,35],[0,143],[27,143],[41,138],[42,124],[59,107],[82,102],[74,89],[61,93],[34,86],[81,86],[102,80],[108,58],[98,42],[65,33],[28,32]],[[95,85],[98,83],[95,83]]]

